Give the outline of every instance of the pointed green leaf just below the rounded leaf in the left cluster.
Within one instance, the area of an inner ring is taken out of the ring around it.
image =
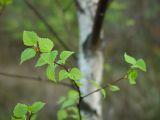
[[[45,64],[52,64],[54,63],[56,57],[58,55],[58,51],[54,50],[50,53],[42,53],[40,58],[37,61],[36,67],[40,67]]]

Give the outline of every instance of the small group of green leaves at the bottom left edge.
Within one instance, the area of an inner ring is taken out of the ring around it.
[[[31,106],[18,103],[13,110],[12,120],[27,120],[28,117],[30,117],[31,120],[35,120],[36,113],[39,112],[44,105],[45,103],[43,102],[35,102]]]

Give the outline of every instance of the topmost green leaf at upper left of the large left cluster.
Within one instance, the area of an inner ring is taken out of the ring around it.
[[[31,31],[23,32],[23,43],[26,46],[34,46],[37,44],[38,36],[36,33]]]

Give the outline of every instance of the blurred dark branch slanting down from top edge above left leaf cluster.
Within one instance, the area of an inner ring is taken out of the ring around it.
[[[26,5],[34,12],[34,14],[42,21],[42,23],[47,27],[48,31],[55,36],[57,41],[66,49],[70,50],[69,47],[63,42],[63,40],[59,37],[58,33],[49,25],[46,19],[38,12],[38,10],[30,3],[28,0],[24,0]]]

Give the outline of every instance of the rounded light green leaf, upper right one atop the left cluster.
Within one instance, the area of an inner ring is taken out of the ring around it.
[[[54,46],[53,42],[48,38],[39,38],[38,43],[41,52],[50,52]]]

